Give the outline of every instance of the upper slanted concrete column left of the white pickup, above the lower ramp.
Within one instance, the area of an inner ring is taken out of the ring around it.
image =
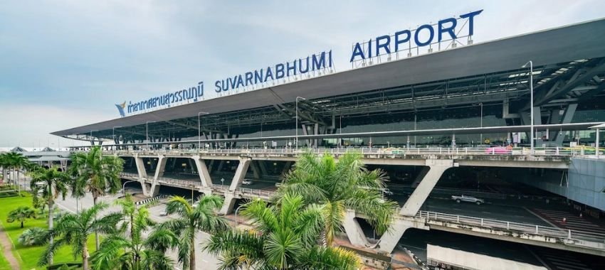
[[[414,193],[411,193],[410,198],[408,198],[404,207],[401,207],[399,215],[409,217],[416,215],[426,198],[428,198],[428,194],[431,193],[437,181],[441,178],[441,175],[443,175],[443,172],[448,168],[453,167],[453,160],[427,159],[426,166],[430,169],[426,172],[426,175],[424,175],[416,189],[414,189]]]

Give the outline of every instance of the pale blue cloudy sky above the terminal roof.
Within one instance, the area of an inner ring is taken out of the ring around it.
[[[483,9],[475,43],[605,17],[605,1],[30,1],[0,5],[0,146],[83,144],[50,132],[115,104]],[[602,34],[602,33],[595,33]]]

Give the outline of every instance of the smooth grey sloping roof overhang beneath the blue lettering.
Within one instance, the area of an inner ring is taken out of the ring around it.
[[[225,97],[205,99],[191,104],[56,131],[52,134],[70,136],[88,134],[90,131],[111,131],[114,126],[127,127],[144,125],[147,121],[160,122],[197,117],[199,112],[221,114],[270,107],[275,104],[295,102],[298,96],[320,99],[503,70],[521,70],[521,65],[527,63],[527,60],[532,60],[537,67],[603,58],[605,35],[598,33],[605,33],[605,19],[461,46]]]

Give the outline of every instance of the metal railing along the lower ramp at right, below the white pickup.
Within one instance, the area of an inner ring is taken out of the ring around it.
[[[527,234],[538,234],[546,237],[555,237],[559,239],[580,240],[586,242],[596,242],[605,244],[605,234],[594,232],[581,232],[573,229],[562,229],[557,227],[547,227],[540,225],[530,225],[518,222],[508,222],[503,220],[492,220],[481,217],[467,217],[461,215],[451,215],[441,212],[420,211],[416,217],[426,219],[428,223],[431,220],[441,222],[458,223],[461,225],[475,225],[480,227],[489,227],[497,229],[506,229],[507,231],[516,231]],[[605,246],[604,246],[605,247]]]

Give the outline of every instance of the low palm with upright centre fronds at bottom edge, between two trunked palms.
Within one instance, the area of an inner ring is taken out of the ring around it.
[[[101,243],[100,249],[93,254],[93,269],[174,269],[174,261],[167,257],[167,249],[176,247],[177,236],[168,230],[158,230],[157,234],[142,238],[142,232],[149,229],[149,211],[146,207],[133,213],[130,237],[112,234]],[[159,235],[162,238],[159,238]],[[162,245],[164,239],[169,244]]]

